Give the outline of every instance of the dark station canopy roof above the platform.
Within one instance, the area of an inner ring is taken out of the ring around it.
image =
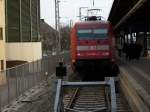
[[[114,0],[108,20],[115,31],[150,31],[150,0]]]

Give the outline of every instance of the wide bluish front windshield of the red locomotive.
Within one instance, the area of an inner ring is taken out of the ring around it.
[[[77,35],[79,39],[106,39],[108,29],[79,29]]]

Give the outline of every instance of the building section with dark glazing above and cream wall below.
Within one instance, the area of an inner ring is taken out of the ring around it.
[[[5,9],[7,65],[41,59],[40,0],[6,0]]]

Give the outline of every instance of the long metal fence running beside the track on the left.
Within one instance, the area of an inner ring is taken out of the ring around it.
[[[68,62],[68,54],[44,57],[31,63],[0,71],[0,108],[9,105],[25,91],[46,79],[45,74],[55,73],[58,61]]]

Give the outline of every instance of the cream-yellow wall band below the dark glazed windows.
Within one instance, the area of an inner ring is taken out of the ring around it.
[[[41,58],[41,42],[6,43],[6,60],[32,62]]]

